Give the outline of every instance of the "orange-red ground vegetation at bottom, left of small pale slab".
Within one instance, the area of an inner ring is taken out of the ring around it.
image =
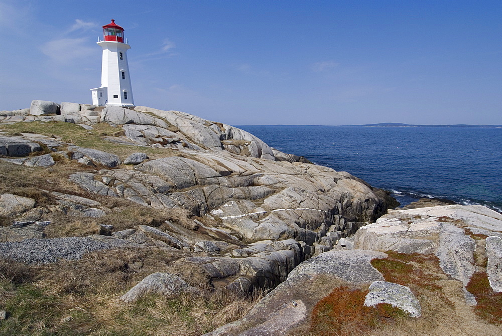
[[[388,303],[364,306],[367,290],[340,286],[323,298],[312,310],[312,334],[364,334],[386,323],[395,323],[407,314]]]

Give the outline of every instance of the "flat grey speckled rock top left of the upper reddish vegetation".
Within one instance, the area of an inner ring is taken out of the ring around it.
[[[370,261],[385,258],[386,253],[371,250],[329,251],[302,262],[288,275],[288,280],[301,274],[325,274],[354,284],[384,281],[382,273]]]

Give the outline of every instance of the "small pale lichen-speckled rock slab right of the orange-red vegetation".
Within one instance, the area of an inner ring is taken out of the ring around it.
[[[420,302],[409,287],[386,281],[375,281],[369,286],[369,292],[364,300],[365,306],[375,306],[379,303],[390,303],[406,311],[412,317],[420,317],[422,308]]]

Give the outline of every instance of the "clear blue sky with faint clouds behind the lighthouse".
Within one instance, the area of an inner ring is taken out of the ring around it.
[[[91,103],[101,26],[136,105],[233,125],[502,124],[502,1],[0,0],[0,110]]]

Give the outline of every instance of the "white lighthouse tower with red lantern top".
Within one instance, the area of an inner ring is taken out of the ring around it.
[[[103,26],[103,40],[99,39],[97,44],[103,48],[101,87],[91,89],[92,104],[134,107],[127,63],[127,51],[131,46],[124,39],[124,29],[111,20]]]

